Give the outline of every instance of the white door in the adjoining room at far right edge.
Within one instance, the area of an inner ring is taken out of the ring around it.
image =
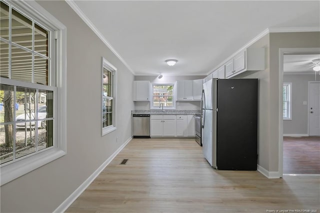
[[[320,81],[309,82],[309,135],[320,135]]]

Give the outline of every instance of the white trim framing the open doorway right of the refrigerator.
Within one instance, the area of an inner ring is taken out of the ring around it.
[[[278,127],[279,127],[279,135],[278,135],[278,172],[280,177],[283,176],[283,113],[282,113],[282,100],[283,94],[281,91],[283,84],[283,55],[284,54],[316,54],[320,53],[320,48],[279,48],[279,111],[278,111]]]

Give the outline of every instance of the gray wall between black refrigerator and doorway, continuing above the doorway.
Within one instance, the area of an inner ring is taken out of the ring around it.
[[[279,48],[320,47],[320,32],[269,33],[250,47],[266,48],[264,71],[246,71],[236,78],[259,78],[258,164],[278,171],[279,150]]]

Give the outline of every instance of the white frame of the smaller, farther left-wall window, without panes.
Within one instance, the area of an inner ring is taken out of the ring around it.
[[[112,97],[105,97],[102,93],[103,91],[103,68],[107,69],[108,71],[111,71],[111,76],[112,76]],[[117,96],[116,96],[116,67],[113,66],[109,61],[107,61],[104,57],[102,57],[102,68],[101,68],[101,93],[102,93],[102,97],[101,97],[101,135],[106,135],[114,130],[116,130],[116,100],[117,100]],[[102,121],[103,121],[103,99],[104,98],[112,98],[112,125],[103,127],[102,126]]]

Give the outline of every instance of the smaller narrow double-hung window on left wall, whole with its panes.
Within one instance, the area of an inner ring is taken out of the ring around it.
[[[102,58],[102,135],[116,129],[116,68]]]

